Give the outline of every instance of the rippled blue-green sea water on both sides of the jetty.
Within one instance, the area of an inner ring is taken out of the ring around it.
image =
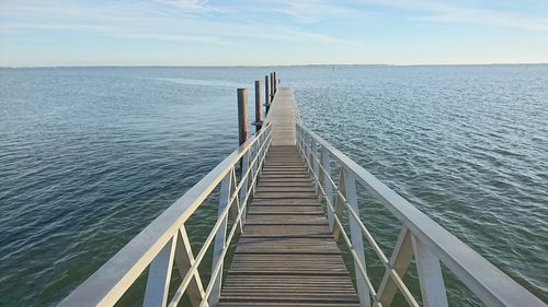
[[[1,69],[0,306],[54,305],[199,180],[270,70]],[[548,302],[548,66],[276,70],[310,128]]]

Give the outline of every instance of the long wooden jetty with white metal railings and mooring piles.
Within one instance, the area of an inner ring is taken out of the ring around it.
[[[144,306],[377,307],[399,293],[408,306],[443,307],[450,302],[442,264],[487,306],[547,306],[309,130],[275,72],[254,92],[255,133],[249,137],[247,90],[238,88],[239,147],[59,306],[114,306],[145,279]],[[399,221],[390,255],[364,224],[361,192]],[[217,219],[194,250],[187,221],[212,197]],[[385,267],[377,286],[365,247]],[[403,282],[412,261],[420,295]]]

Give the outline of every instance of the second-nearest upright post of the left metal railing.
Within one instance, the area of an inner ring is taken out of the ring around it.
[[[220,194],[219,194],[219,205],[218,205],[218,215],[219,216],[222,213],[222,211],[225,210],[225,208],[227,205],[230,205],[230,203],[228,203],[228,202],[230,200],[230,196],[232,194],[232,190],[233,190],[232,172],[233,170],[229,172],[225,176],[225,178],[222,179],[222,181],[220,184]],[[227,245],[226,244],[227,223],[228,223],[228,215],[225,215],[225,217],[222,219],[222,222],[220,224],[220,227],[217,231],[217,234],[215,235],[215,246],[214,246],[214,250],[213,250],[213,260],[212,260],[212,272],[215,270],[217,262],[222,261],[222,259],[220,259],[220,256],[222,253],[222,250],[227,247],[226,246]],[[221,264],[220,273],[217,274],[217,276],[214,281],[212,294],[209,295],[208,302],[209,302],[210,306],[217,306],[217,304],[219,303],[221,281],[222,281],[222,264]]]

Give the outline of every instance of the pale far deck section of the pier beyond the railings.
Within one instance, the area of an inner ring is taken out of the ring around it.
[[[272,145],[297,144],[297,104],[289,87],[277,88],[266,121],[272,122]]]

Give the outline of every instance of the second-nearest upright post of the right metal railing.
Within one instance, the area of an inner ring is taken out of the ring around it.
[[[357,206],[357,192],[356,192],[356,179],[353,173],[343,168],[344,176],[344,197],[350,204],[350,208],[354,210],[357,214],[359,214],[359,209]],[[369,286],[365,281],[365,276],[362,273],[358,273],[358,262],[364,268],[365,273],[367,273],[366,264],[365,264],[365,252],[364,252],[364,239],[362,236],[362,228],[359,227],[359,223],[352,216],[349,212],[349,224],[350,224],[350,234],[352,240],[352,248],[356,252],[356,258],[354,259],[354,271],[356,274],[356,287],[357,295],[359,297],[359,305],[364,307],[370,306],[370,297],[369,297]]]

